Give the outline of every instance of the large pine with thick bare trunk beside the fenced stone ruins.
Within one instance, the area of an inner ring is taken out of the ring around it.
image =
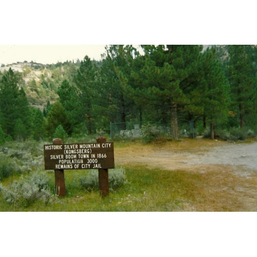
[[[189,94],[200,81],[198,45],[143,45],[145,65],[142,80],[148,95],[167,103],[170,111],[171,137],[179,138],[178,108],[189,104]]]

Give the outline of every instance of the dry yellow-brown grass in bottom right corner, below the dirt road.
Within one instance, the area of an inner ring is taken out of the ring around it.
[[[209,166],[201,174],[200,191],[193,209],[197,211],[257,211],[257,177],[236,176],[225,166]],[[191,207],[189,206],[189,211]]]

